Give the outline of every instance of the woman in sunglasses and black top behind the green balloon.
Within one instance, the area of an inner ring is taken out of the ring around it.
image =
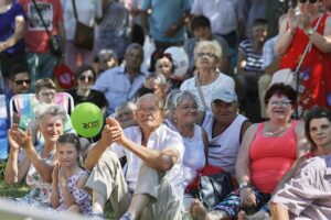
[[[76,88],[67,91],[72,95],[75,106],[82,102],[92,102],[98,106],[105,114],[108,106],[105,95],[92,89],[92,86],[96,80],[96,74],[93,67],[89,65],[82,65],[75,72],[75,78]]]

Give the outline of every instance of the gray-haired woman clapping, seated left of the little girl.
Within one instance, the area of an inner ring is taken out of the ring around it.
[[[31,191],[22,198],[13,198],[17,204],[50,207],[52,170],[57,158],[55,145],[63,133],[65,111],[56,105],[43,105],[36,112],[44,144],[32,144],[31,132],[22,132],[18,124],[9,130],[10,154],[4,172],[7,184],[17,184],[25,178]],[[22,150],[20,150],[20,147]],[[23,151],[23,152],[22,152]]]

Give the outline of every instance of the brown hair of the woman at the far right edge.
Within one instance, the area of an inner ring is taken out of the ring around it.
[[[325,118],[329,120],[329,122],[331,122],[331,110],[323,108],[323,107],[314,107],[305,117],[305,134],[306,134],[307,140],[311,144],[310,151],[312,151],[312,152],[317,150],[317,145],[312,141],[311,135],[310,135],[310,122],[313,119],[322,119],[322,118]]]

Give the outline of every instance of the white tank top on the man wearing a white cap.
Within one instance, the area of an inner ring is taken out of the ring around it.
[[[212,113],[206,113],[202,128],[206,131],[209,136],[210,165],[222,167],[232,175],[235,174],[235,164],[241,145],[242,125],[246,120],[246,117],[238,114],[222,134],[212,138],[215,119]]]

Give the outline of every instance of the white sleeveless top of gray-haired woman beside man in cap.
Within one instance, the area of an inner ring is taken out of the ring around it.
[[[167,119],[166,124],[170,129],[178,131],[175,125],[170,120]],[[194,135],[192,138],[182,136],[182,139],[185,146],[182,164],[182,177],[185,179],[184,187],[186,187],[196,176],[196,170],[201,170],[205,165],[202,128],[197,124],[194,124]]]

